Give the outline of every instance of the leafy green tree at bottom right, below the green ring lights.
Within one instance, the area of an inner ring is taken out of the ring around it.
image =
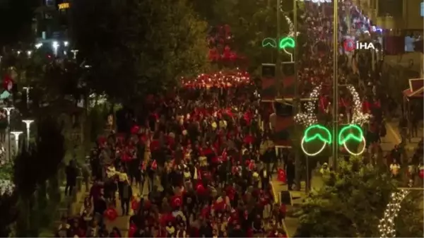
[[[300,230],[310,232],[310,237],[379,237],[379,220],[393,191],[396,181],[379,168],[363,165],[360,160],[351,158],[341,162],[337,173],[324,179],[324,186],[313,192],[302,205]],[[406,199],[403,206],[412,206]],[[416,207],[417,208],[417,207]],[[418,209],[408,209],[411,220],[421,218]],[[398,222],[403,219],[400,219]],[[406,225],[406,224],[404,224]],[[417,223],[408,224],[415,234],[423,234]],[[396,237],[410,237],[411,233]]]

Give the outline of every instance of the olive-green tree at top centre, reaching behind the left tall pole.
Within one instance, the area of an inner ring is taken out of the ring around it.
[[[264,49],[261,42],[266,37],[277,37],[276,1],[192,0],[192,2],[196,11],[208,21],[211,27],[217,25],[230,26],[232,32],[230,47],[237,54],[245,56],[251,71],[258,69],[262,63],[275,63],[276,49]],[[285,12],[281,12],[280,15],[280,32],[281,37],[285,37],[290,35],[290,30],[293,30],[290,29],[285,17],[287,16],[293,22],[293,14],[291,13],[293,2],[283,1],[282,4]],[[281,54],[282,59],[286,59],[287,56]]]

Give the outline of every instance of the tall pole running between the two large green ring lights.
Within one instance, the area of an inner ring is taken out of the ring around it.
[[[338,71],[337,71],[337,57],[338,57],[338,1],[334,2],[334,22],[333,22],[333,138],[337,138],[338,131]],[[337,169],[338,160],[338,145],[333,143],[333,169]]]

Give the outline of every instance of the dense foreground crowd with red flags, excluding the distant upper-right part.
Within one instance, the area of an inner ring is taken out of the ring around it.
[[[90,155],[95,182],[78,223],[85,237],[101,237],[120,215],[131,215],[131,238],[284,237],[285,207],[269,185],[276,150],[251,87],[186,88],[153,98],[146,117],[118,113],[119,132]]]

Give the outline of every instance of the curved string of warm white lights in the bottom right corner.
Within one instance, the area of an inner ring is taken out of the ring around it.
[[[384,216],[379,220],[378,230],[380,238],[395,238],[396,230],[394,220],[401,210],[401,203],[404,201],[409,191],[404,189],[391,194],[390,202],[384,210]]]

